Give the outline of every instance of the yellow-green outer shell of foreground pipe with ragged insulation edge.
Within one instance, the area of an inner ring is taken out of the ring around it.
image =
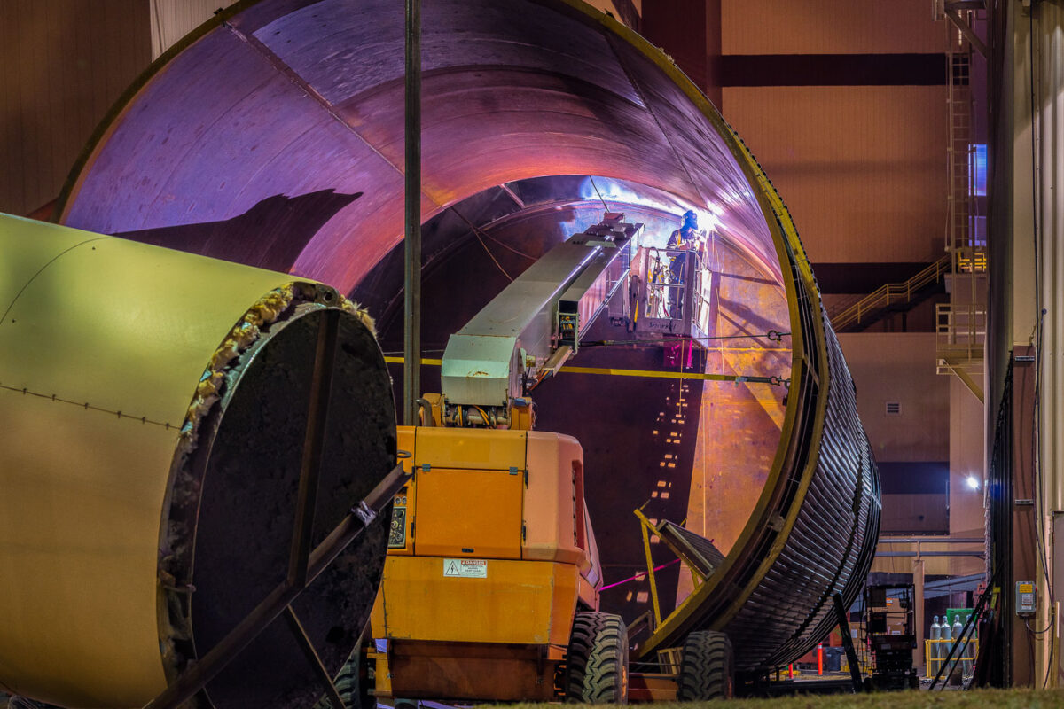
[[[0,264],[0,690],[139,707],[178,666],[161,548],[212,367],[283,307],[371,323],[284,273],[3,215]],[[387,389],[380,351],[364,357]]]

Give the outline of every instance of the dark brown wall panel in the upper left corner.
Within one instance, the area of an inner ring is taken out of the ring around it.
[[[54,200],[150,58],[148,0],[0,2],[0,212]]]

